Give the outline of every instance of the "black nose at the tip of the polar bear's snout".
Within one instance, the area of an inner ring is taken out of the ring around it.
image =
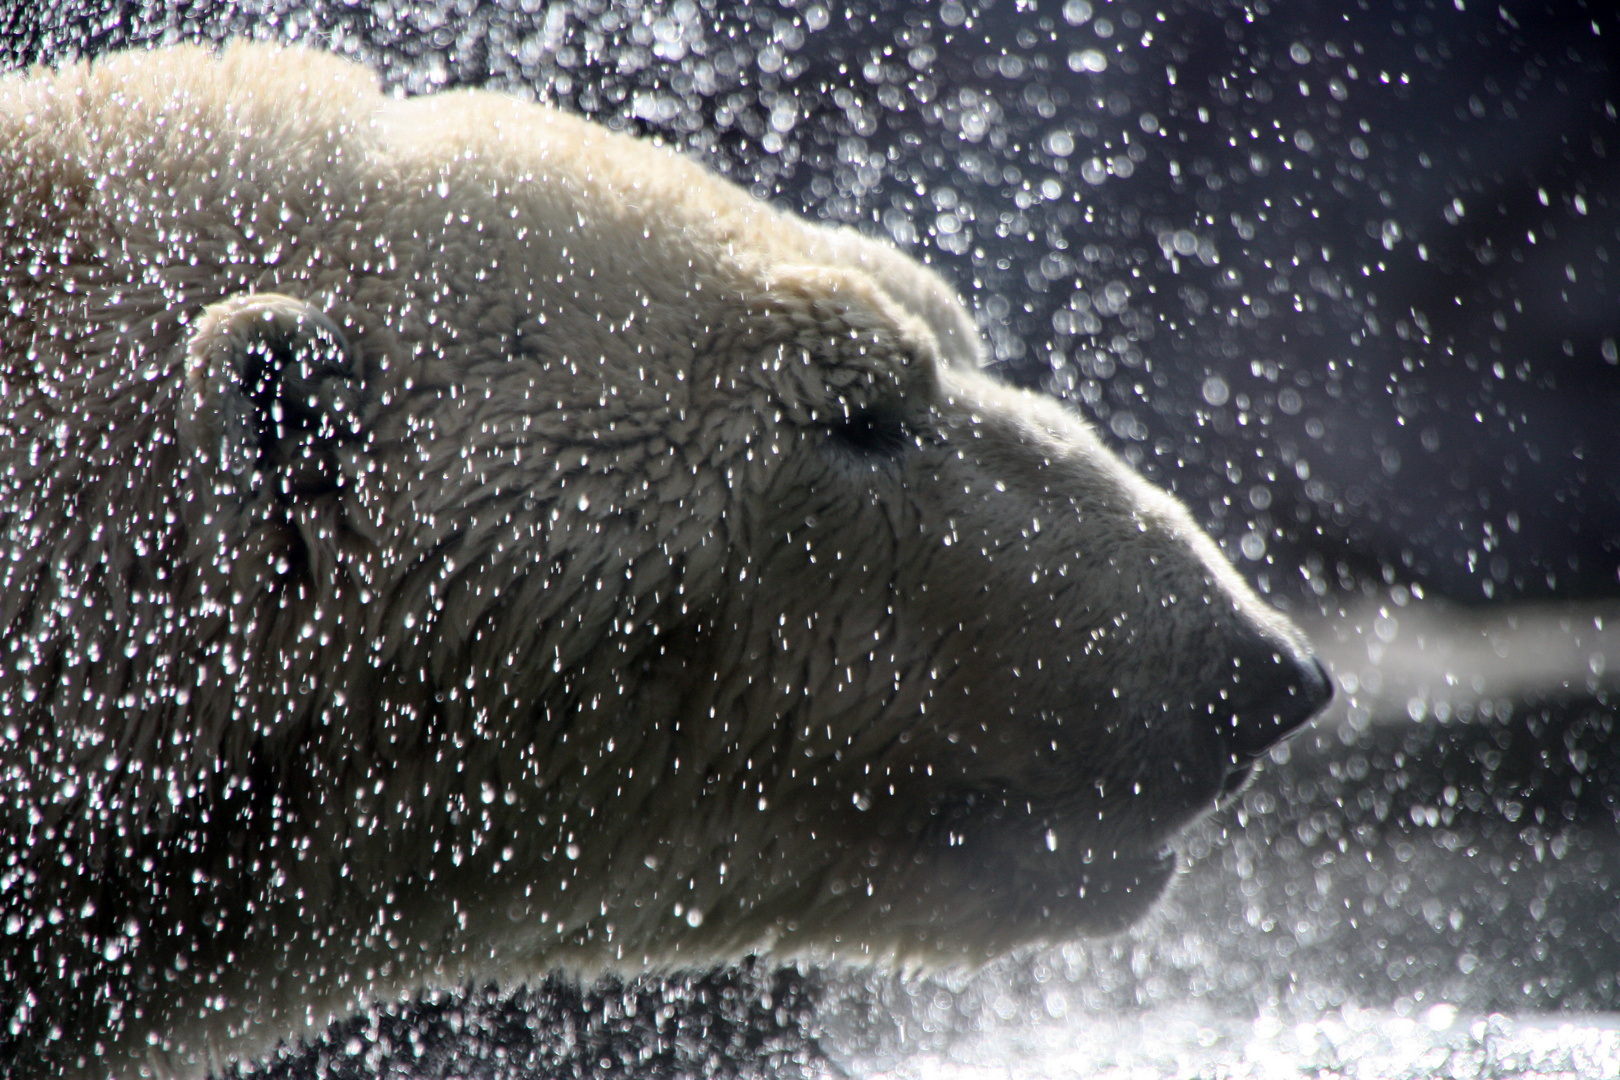
[[[1233,763],[1259,758],[1333,698],[1322,661],[1257,641],[1233,657],[1231,687],[1215,714]]]

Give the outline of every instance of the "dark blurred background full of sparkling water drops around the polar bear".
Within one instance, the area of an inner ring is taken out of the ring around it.
[[[36,0],[0,66],[232,36],[556,104],[889,238],[1340,685],[1128,936],[970,976],[473,988],[272,1072],[1197,1075],[1254,1040],[1322,1070],[1406,1061],[1408,1025],[1418,1064],[1377,1075],[1521,1075],[1580,1017],[1547,1052],[1620,1074],[1612,5]]]

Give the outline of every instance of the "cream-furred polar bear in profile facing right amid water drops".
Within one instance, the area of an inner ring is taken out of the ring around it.
[[[1116,929],[1328,695],[936,275],[669,151],[180,47],[0,81],[0,206],[11,1075]]]

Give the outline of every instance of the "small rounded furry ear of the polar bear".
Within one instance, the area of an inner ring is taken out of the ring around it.
[[[253,293],[206,308],[186,343],[185,379],[180,436],[217,470],[217,487],[238,497],[332,487],[337,445],[363,434],[348,340],[292,296]]]

